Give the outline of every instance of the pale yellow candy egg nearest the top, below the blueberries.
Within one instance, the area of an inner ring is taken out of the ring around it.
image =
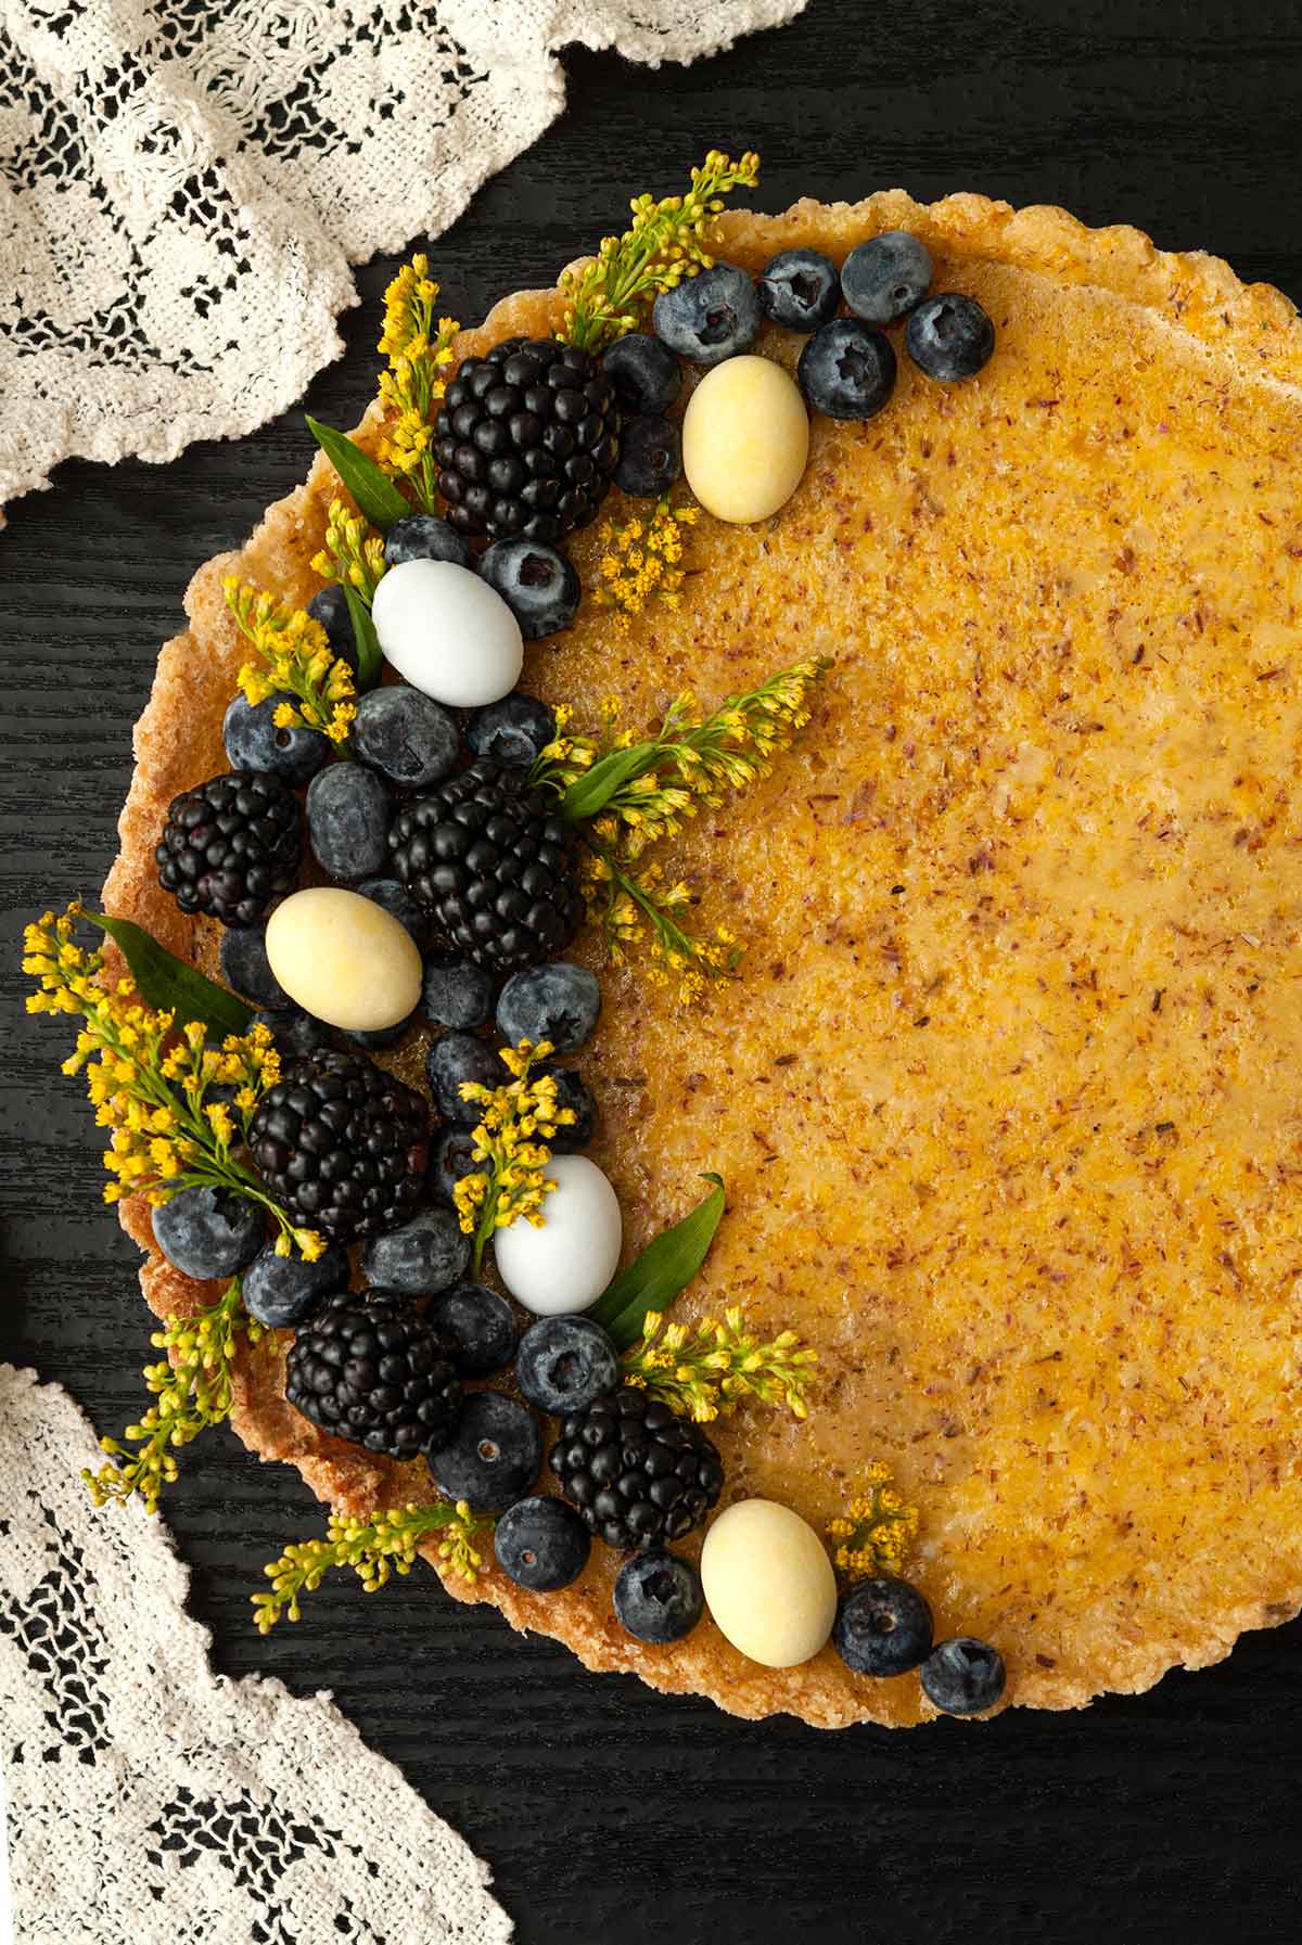
[[[683,416],[683,473],[706,513],[732,525],[769,519],[808,459],[810,416],[782,366],[747,354],[705,373]]]

